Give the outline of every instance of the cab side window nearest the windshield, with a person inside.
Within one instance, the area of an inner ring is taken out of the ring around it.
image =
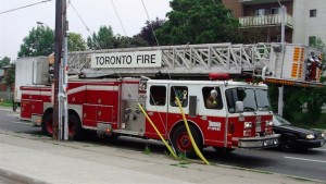
[[[206,109],[223,109],[220,87],[203,87],[202,97]]]

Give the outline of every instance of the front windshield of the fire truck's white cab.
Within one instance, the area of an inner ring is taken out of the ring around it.
[[[271,105],[266,89],[231,88],[225,91],[228,111],[236,112],[236,101],[243,101],[243,111],[269,111]]]

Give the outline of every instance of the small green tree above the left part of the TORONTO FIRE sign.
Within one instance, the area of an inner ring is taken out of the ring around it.
[[[113,48],[113,30],[112,27],[101,26],[99,32],[92,34],[92,37],[87,37],[87,46],[90,49],[112,49]]]

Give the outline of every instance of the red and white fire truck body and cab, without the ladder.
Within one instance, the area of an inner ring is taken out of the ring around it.
[[[216,106],[209,107],[213,95]],[[22,87],[21,118],[32,120],[52,135],[51,87]],[[68,83],[68,135],[83,128],[99,135],[122,134],[159,139],[138,103],[165,139],[179,152],[193,155],[175,101],[179,96],[196,143],[200,148],[263,148],[276,146],[265,85],[228,81],[171,81],[123,78]],[[191,154],[190,154],[191,152]]]

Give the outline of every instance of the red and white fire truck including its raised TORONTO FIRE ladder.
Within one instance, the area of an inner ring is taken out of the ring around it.
[[[199,149],[275,147],[267,86],[229,78],[266,72],[264,54],[258,46],[229,44],[71,52],[70,72],[79,77],[66,89],[68,135],[78,139],[90,130],[159,139],[140,105],[177,152],[195,156],[178,97]],[[21,119],[51,136],[52,87],[22,86],[21,93]]]

